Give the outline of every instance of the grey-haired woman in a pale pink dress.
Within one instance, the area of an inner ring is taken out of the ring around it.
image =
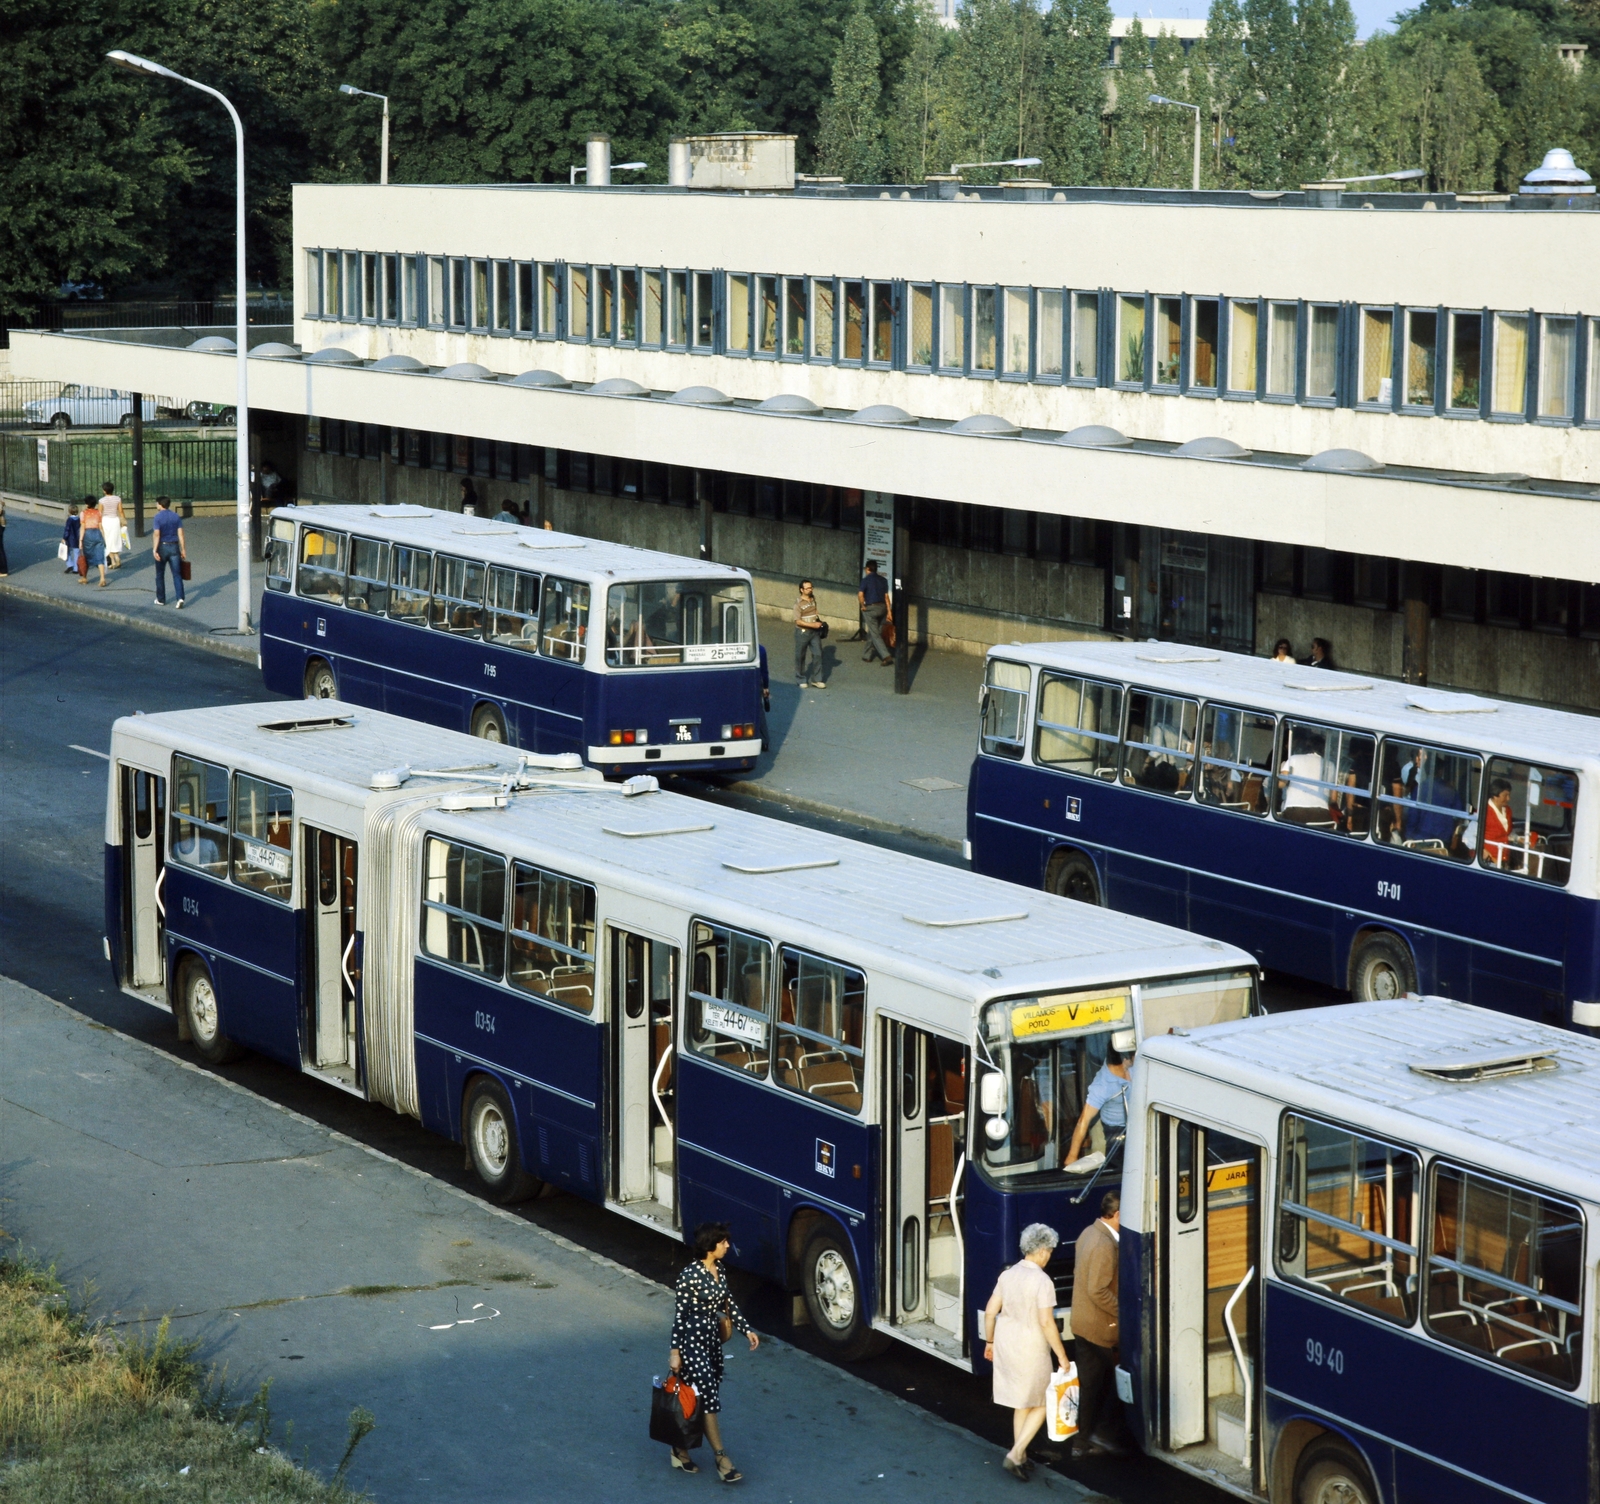
[[[1000,1466],[1021,1483],[1034,1470],[1027,1443],[1045,1424],[1051,1354],[1058,1368],[1067,1368],[1056,1326],[1056,1282],[1045,1274],[1059,1242],[1054,1227],[1029,1222],[1022,1229],[1022,1258],[1002,1272],[984,1307],[984,1357],[994,1365],[995,1405],[1011,1408],[1011,1450]]]

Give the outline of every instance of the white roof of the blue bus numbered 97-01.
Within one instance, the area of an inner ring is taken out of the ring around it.
[[[1259,706],[1363,731],[1387,731],[1419,742],[1600,771],[1600,720],[1512,699],[1429,690],[1170,642],[1011,643],[990,648],[989,656],[1066,674],[1120,678],[1171,694]]]

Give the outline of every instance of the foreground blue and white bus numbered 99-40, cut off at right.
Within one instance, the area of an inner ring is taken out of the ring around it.
[[[1150,1037],[1117,1374],[1144,1448],[1272,1504],[1600,1498],[1597,1099],[1595,1040],[1443,998]]]

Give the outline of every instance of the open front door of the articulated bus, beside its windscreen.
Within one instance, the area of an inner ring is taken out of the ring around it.
[[[890,1216],[882,1304],[907,1336],[960,1358],[968,1051],[894,1019],[883,1029]]]

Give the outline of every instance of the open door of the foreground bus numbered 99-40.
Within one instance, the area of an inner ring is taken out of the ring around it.
[[[1253,1488],[1261,1152],[1162,1117],[1162,1446]]]

